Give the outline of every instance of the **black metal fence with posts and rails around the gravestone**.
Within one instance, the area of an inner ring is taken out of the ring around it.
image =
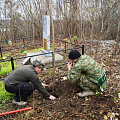
[[[36,37],[40,37],[40,36],[36,36]],[[26,39],[28,39],[28,38],[30,38],[30,39],[32,39],[33,37],[27,37]],[[23,41],[23,43],[25,42],[25,38],[21,38],[21,39],[16,39],[16,40],[23,40],[24,39],[24,41]],[[82,50],[82,55],[84,54],[84,45],[82,45],[82,46],[80,46],[80,45],[76,45],[76,44],[73,44],[73,43],[70,43],[70,42],[66,42],[66,41],[64,41],[64,40],[59,40],[59,39],[55,39],[56,41],[61,41],[61,42],[63,42],[64,43],[64,49],[58,49],[58,48],[55,48],[55,52],[57,52],[57,53],[59,53],[59,52],[64,52],[64,53],[66,53],[67,51],[69,51],[69,50],[72,50],[72,49],[79,49],[79,48],[81,48],[81,50]],[[14,41],[14,40],[13,40]],[[2,41],[2,42],[5,42],[5,41]],[[7,41],[8,42],[8,41]],[[32,46],[36,46],[36,45],[38,45],[38,44],[34,44],[34,45],[32,45]],[[67,48],[67,46],[68,45],[72,45],[73,47],[72,48]],[[24,47],[30,47],[29,45],[24,45],[22,48],[24,48]],[[0,53],[1,53],[1,57],[2,57],[2,51],[9,51],[9,50],[14,50],[14,49],[19,49],[19,48],[21,48],[21,47],[14,47],[14,48],[12,48],[12,49],[4,49],[4,50],[2,50],[1,49],[1,47],[0,47]],[[52,58],[53,58],[53,52],[50,52],[51,54],[52,54]],[[32,56],[26,56],[26,57],[19,57],[19,58],[13,58],[13,56],[11,56],[10,57],[10,59],[8,59],[8,60],[2,60],[2,61],[0,61],[0,63],[2,63],[2,62],[6,62],[6,61],[11,61],[11,66],[12,66],[12,70],[14,70],[15,68],[14,68],[14,61],[15,60],[19,60],[19,59],[24,59],[24,58],[27,58],[27,57],[34,57],[34,56],[40,56],[40,55],[45,55],[45,54],[49,54],[49,53],[44,53],[44,54],[37,54],[37,55],[32,55]],[[46,68],[46,69],[49,69],[49,68],[52,68],[53,67],[53,64],[54,64],[54,62],[53,62],[53,59],[52,59],[52,66],[50,66],[50,67],[48,67],[48,68]],[[65,65],[65,64],[67,64],[67,63],[63,63],[63,64],[59,64],[59,65],[56,65],[55,67],[57,67],[57,66],[60,66],[60,65]],[[2,79],[0,79],[0,80],[3,80],[4,78],[2,78]]]

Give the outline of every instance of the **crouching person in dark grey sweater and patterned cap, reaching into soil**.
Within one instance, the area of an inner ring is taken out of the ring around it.
[[[37,74],[44,69],[44,64],[34,61],[33,65],[24,65],[13,70],[5,79],[5,89],[9,93],[15,93],[12,100],[16,105],[27,105],[27,97],[37,88],[45,97],[50,100],[56,98],[45,89],[46,84],[41,83]]]

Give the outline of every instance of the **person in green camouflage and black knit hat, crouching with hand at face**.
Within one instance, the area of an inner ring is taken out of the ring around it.
[[[74,63],[68,63],[68,79],[72,84],[78,84],[83,92],[78,93],[79,97],[93,95],[93,91],[105,90],[108,85],[105,71],[102,66],[88,55],[81,55],[78,50],[69,53],[69,59]]]

